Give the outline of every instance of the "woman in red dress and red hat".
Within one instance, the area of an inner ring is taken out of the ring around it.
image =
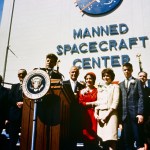
[[[97,100],[97,88],[94,86],[96,75],[88,72],[85,77],[86,87],[80,91],[79,103],[82,108],[82,134],[85,150],[97,148],[97,121],[94,117],[94,107],[91,102]]]

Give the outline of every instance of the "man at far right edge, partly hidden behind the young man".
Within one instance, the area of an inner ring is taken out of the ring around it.
[[[146,86],[147,73],[145,71],[139,72],[138,78],[144,88],[144,148],[148,150],[150,148],[150,88]]]

